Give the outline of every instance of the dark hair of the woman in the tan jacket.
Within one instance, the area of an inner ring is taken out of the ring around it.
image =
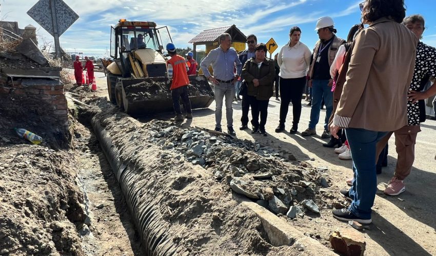
[[[367,22],[388,17],[402,23],[406,16],[406,8],[404,8],[404,0],[367,0],[363,14],[362,18]]]

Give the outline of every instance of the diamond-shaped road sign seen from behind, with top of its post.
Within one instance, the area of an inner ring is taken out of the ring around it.
[[[54,37],[56,56],[61,56],[59,37],[78,19],[62,0],[39,0],[27,14]]]

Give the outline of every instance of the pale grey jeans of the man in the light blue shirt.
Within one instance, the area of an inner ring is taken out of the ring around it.
[[[234,84],[220,82],[215,84],[213,90],[215,93],[215,126],[221,128],[224,96],[226,96],[227,127],[233,126],[232,102],[234,97]]]

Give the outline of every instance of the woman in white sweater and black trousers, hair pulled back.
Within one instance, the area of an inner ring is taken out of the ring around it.
[[[275,129],[276,133],[285,130],[286,115],[289,103],[292,102],[292,128],[289,133],[296,133],[301,116],[301,96],[306,85],[306,75],[310,66],[311,52],[300,41],[301,29],[293,27],[289,31],[290,40],[279,52],[280,66],[280,123]]]

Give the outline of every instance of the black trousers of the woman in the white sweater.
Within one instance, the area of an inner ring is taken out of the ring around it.
[[[301,117],[301,96],[306,86],[306,77],[282,78],[280,77],[280,124],[285,124],[288,115],[289,103],[292,101],[292,124],[297,125]]]

